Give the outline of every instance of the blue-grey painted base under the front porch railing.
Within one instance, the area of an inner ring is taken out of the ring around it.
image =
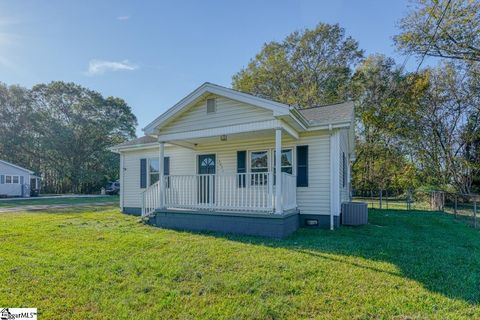
[[[299,228],[299,211],[289,210],[280,215],[247,211],[157,209],[148,223],[174,230],[285,238]]]

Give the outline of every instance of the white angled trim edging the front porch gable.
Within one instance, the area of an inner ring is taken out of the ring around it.
[[[191,92],[189,95],[187,95],[185,98],[180,100],[173,107],[171,107],[170,109],[165,111],[163,114],[161,114],[159,117],[157,117],[155,120],[150,122],[143,129],[143,131],[145,132],[146,135],[154,134],[155,128],[161,126],[162,124],[165,124],[168,120],[170,120],[174,116],[178,116],[179,114],[181,114],[183,111],[187,109],[188,106],[192,105],[192,103],[197,101],[206,93],[216,94],[232,100],[248,103],[248,104],[257,106],[259,108],[268,109],[273,111],[274,115],[288,115],[290,110],[289,105],[286,105],[280,102],[260,98],[248,93],[236,91],[236,90],[225,88],[213,83],[205,82],[200,87],[198,87],[193,92]]]

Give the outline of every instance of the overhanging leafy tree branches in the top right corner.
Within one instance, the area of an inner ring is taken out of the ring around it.
[[[480,61],[480,1],[417,0],[394,40],[405,54]]]

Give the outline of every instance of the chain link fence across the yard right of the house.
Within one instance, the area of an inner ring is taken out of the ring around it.
[[[370,209],[441,211],[467,219],[477,228],[477,209],[480,200],[477,194],[460,194],[441,190],[354,190],[352,199],[365,202]]]

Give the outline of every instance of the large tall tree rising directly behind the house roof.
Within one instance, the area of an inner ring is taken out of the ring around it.
[[[320,23],[270,42],[233,76],[233,88],[308,107],[350,97],[352,68],[362,58],[358,42],[338,24]]]

